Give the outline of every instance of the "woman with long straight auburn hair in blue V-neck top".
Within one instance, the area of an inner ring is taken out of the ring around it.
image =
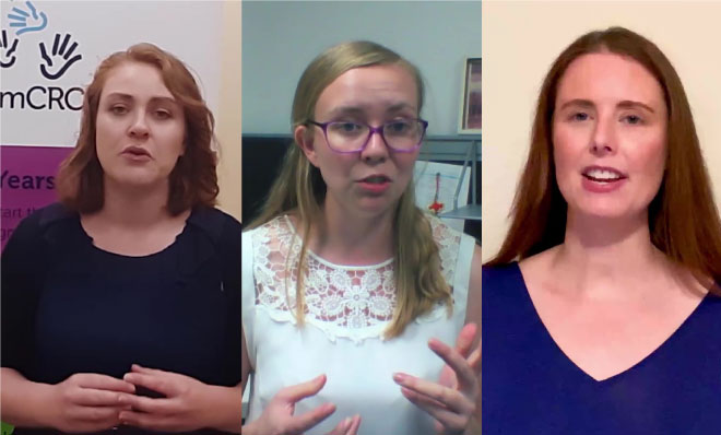
[[[558,56],[511,219],[483,268],[484,433],[721,433],[721,222],[653,43]]]

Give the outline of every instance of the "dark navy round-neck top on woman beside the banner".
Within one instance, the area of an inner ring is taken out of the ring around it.
[[[2,252],[2,366],[46,384],[137,363],[238,385],[240,237],[232,216],[196,209],[170,246],[127,257],[95,247],[60,204],[38,210]]]

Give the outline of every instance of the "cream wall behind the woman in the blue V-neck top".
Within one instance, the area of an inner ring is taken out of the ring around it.
[[[529,148],[533,105],[576,37],[622,25],[669,57],[690,102],[721,208],[721,2],[483,2],[483,257],[495,255]]]

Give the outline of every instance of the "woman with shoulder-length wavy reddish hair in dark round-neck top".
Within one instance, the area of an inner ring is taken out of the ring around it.
[[[98,66],[60,202],[2,252],[15,434],[240,432],[241,231],[214,208],[213,124],[169,52]]]

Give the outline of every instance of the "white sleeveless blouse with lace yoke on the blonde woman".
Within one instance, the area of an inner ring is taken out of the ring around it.
[[[402,395],[392,375],[436,381],[444,361],[427,346],[453,344],[465,318],[474,239],[428,216],[442,274],[453,290],[453,314],[438,305],[399,338],[385,340],[395,307],[393,260],[340,266],[308,251],[306,326],[296,326],[295,275],[299,237],[287,216],[243,234],[243,327],[255,367],[247,422],[284,387],[326,374],[320,392],[296,404],[295,414],[332,402],[336,411],[308,435],[330,432],[342,419],[363,418],[359,435],[433,434],[433,420]],[[288,306],[289,303],[289,306]]]

